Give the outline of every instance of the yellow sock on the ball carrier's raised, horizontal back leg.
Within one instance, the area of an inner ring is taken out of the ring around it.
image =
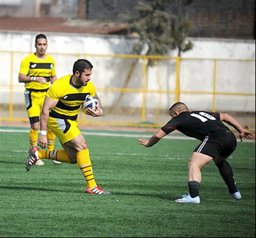
[[[56,161],[71,164],[71,160],[68,157],[67,152],[65,150],[54,150],[54,151],[39,150],[38,157],[39,159],[56,160]]]

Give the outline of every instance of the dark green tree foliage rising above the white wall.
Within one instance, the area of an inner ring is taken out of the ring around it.
[[[175,16],[166,12],[169,0],[147,0],[138,6],[140,18],[132,24],[132,30],[139,35],[139,41],[134,44],[134,52],[141,54],[148,47],[145,55],[165,55],[169,49],[181,52],[192,49],[192,42],[186,42],[191,28],[191,21],[186,17]],[[179,3],[179,1],[178,1]],[[154,66],[158,60],[149,59],[148,65]]]

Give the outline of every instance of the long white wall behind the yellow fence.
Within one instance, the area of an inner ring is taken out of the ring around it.
[[[39,32],[10,32],[1,31],[0,50],[34,52],[35,35]],[[109,54],[126,55],[131,50],[136,38],[128,38],[114,35],[79,35],[47,33],[49,55],[56,61],[56,73],[60,78],[66,74],[72,74],[73,63],[77,58],[84,58],[85,54]],[[188,52],[183,52],[180,61],[180,90],[200,91],[203,93],[181,94],[180,101],[189,102],[191,108],[205,110],[212,109],[212,92],[214,78],[214,61],[218,58],[216,90],[219,92],[255,93],[255,61],[236,61],[235,59],[255,60],[254,40],[224,40],[191,38],[194,47]],[[59,55],[59,54],[72,55]],[[23,84],[18,82],[20,61],[27,53],[15,53],[14,55],[14,103],[23,102]],[[176,57],[177,50],[169,52],[169,56]],[[88,56],[88,60],[94,65],[92,81],[97,88],[123,87],[125,79],[134,59]],[[202,58],[189,60],[186,58]],[[211,59],[209,59],[211,58]],[[221,59],[233,59],[225,61]],[[2,52],[0,55],[0,84],[1,103],[9,102],[10,81],[10,54]],[[142,88],[143,61],[139,60],[132,75],[128,88]],[[147,89],[171,90],[176,87],[176,59],[164,60],[156,67],[147,70]],[[105,107],[113,105],[119,93],[100,93]],[[121,105],[137,107],[142,104],[141,93],[126,93]],[[146,97],[147,107],[162,109],[169,107],[175,101],[174,93],[148,93]],[[235,103],[238,102],[238,103]],[[216,109],[255,111],[255,96],[216,96]]]

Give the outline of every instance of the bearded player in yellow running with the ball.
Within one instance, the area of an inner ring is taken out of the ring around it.
[[[64,150],[45,151],[31,146],[26,160],[26,169],[29,171],[38,159],[77,163],[87,182],[85,192],[108,195],[111,193],[97,186],[95,182],[89,149],[77,123],[80,106],[87,96],[95,97],[99,102],[96,110],[89,108],[87,114],[94,117],[102,115],[101,100],[90,81],[92,69],[93,65],[90,61],[79,59],[73,65],[73,75],[59,78],[47,91],[40,116],[41,135],[38,145],[46,148],[48,125],[60,140]]]

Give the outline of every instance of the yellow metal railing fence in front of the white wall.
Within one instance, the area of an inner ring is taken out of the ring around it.
[[[22,53],[22,54],[29,54],[31,52],[20,52],[20,51],[1,51],[1,53],[9,53],[10,54],[10,84],[2,84],[0,83],[1,88],[2,87],[9,87],[9,117],[1,117],[0,120],[5,120],[9,122],[13,121],[28,121],[26,118],[14,118],[13,117],[13,89],[14,88],[20,88],[22,86],[14,85],[13,84],[13,75],[14,75],[14,54],[15,53]],[[76,56],[76,58],[84,57],[87,58],[88,56],[96,56],[96,57],[111,57],[111,58],[132,58],[132,59],[142,59],[143,60],[143,68],[142,68],[142,88],[116,88],[116,87],[109,87],[109,88],[99,88],[97,87],[97,91],[102,92],[115,92],[115,93],[142,93],[143,99],[142,99],[142,105],[141,105],[141,122],[144,123],[146,120],[146,95],[147,93],[166,93],[166,94],[175,94],[175,102],[179,100],[180,94],[209,94],[213,96],[212,99],[212,110],[215,111],[215,103],[216,103],[216,97],[218,95],[233,95],[233,96],[255,96],[255,93],[243,93],[243,92],[219,92],[216,90],[216,83],[217,83],[217,63],[218,61],[244,61],[244,62],[255,62],[253,59],[216,59],[216,58],[181,58],[181,57],[170,57],[170,56],[158,56],[158,55],[103,55],[103,54],[70,54],[70,53],[49,53],[50,55],[66,55],[66,56]],[[176,61],[176,75],[175,75],[175,90],[150,90],[146,88],[146,69],[147,69],[147,59],[160,59],[160,60],[175,60]],[[186,61],[186,60],[194,60],[194,61],[213,61],[213,90],[212,91],[189,91],[189,90],[180,90],[180,61]],[[85,120],[85,115],[81,115],[80,122],[82,125],[85,123],[90,123],[90,120]],[[141,125],[141,122],[114,122],[115,125]],[[96,122],[92,122],[93,124],[96,124]],[[100,122],[101,125],[104,124],[104,122]],[[106,122],[108,125],[108,122]],[[143,125],[143,126],[156,126],[157,123],[151,124],[151,125]]]

